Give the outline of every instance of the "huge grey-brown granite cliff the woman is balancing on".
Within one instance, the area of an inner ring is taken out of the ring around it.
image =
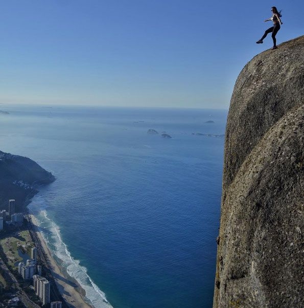
[[[225,138],[214,307],[301,307],[304,36],[246,64]]]

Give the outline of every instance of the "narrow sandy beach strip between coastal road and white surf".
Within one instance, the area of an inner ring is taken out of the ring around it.
[[[40,240],[40,244],[42,249],[44,250],[46,258],[48,259],[52,275],[57,284],[57,288],[65,299],[68,306],[71,308],[93,308],[92,305],[89,305],[83,299],[85,291],[81,288],[76,279],[69,276],[66,272],[64,273],[63,269],[53,259],[51,251],[46,246],[41,233],[38,231],[38,224],[35,216],[32,214],[30,216],[33,224],[33,229],[35,230],[37,237]]]

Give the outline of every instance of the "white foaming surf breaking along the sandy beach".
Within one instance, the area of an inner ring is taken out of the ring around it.
[[[66,272],[73,278],[75,278],[81,287],[85,290],[85,297],[88,299],[96,308],[111,308],[111,304],[106,299],[105,293],[102,292],[98,285],[96,285],[92,279],[87,274],[87,269],[80,265],[80,261],[72,257],[71,253],[68,251],[66,244],[63,242],[60,234],[60,228],[54,221],[52,221],[46,212],[48,206],[45,204],[43,197],[37,194],[32,203],[29,206],[30,211],[35,215],[37,223],[41,228],[47,229],[48,232],[43,232],[41,234],[49,247],[50,251],[59,258],[62,263],[61,267],[66,269]]]

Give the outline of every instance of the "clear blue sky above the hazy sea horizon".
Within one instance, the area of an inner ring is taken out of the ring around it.
[[[304,34],[302,0],[1,1],[0,103],[227,108],[271,6]]]

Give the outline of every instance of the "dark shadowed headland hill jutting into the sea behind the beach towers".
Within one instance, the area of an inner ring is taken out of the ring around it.
[[[0,151],[0,210],[8,210],[9,199],[15,199],[16,212],[22,211],[37,193],[37,185],[54,180],[51,172],[31,159]]]

